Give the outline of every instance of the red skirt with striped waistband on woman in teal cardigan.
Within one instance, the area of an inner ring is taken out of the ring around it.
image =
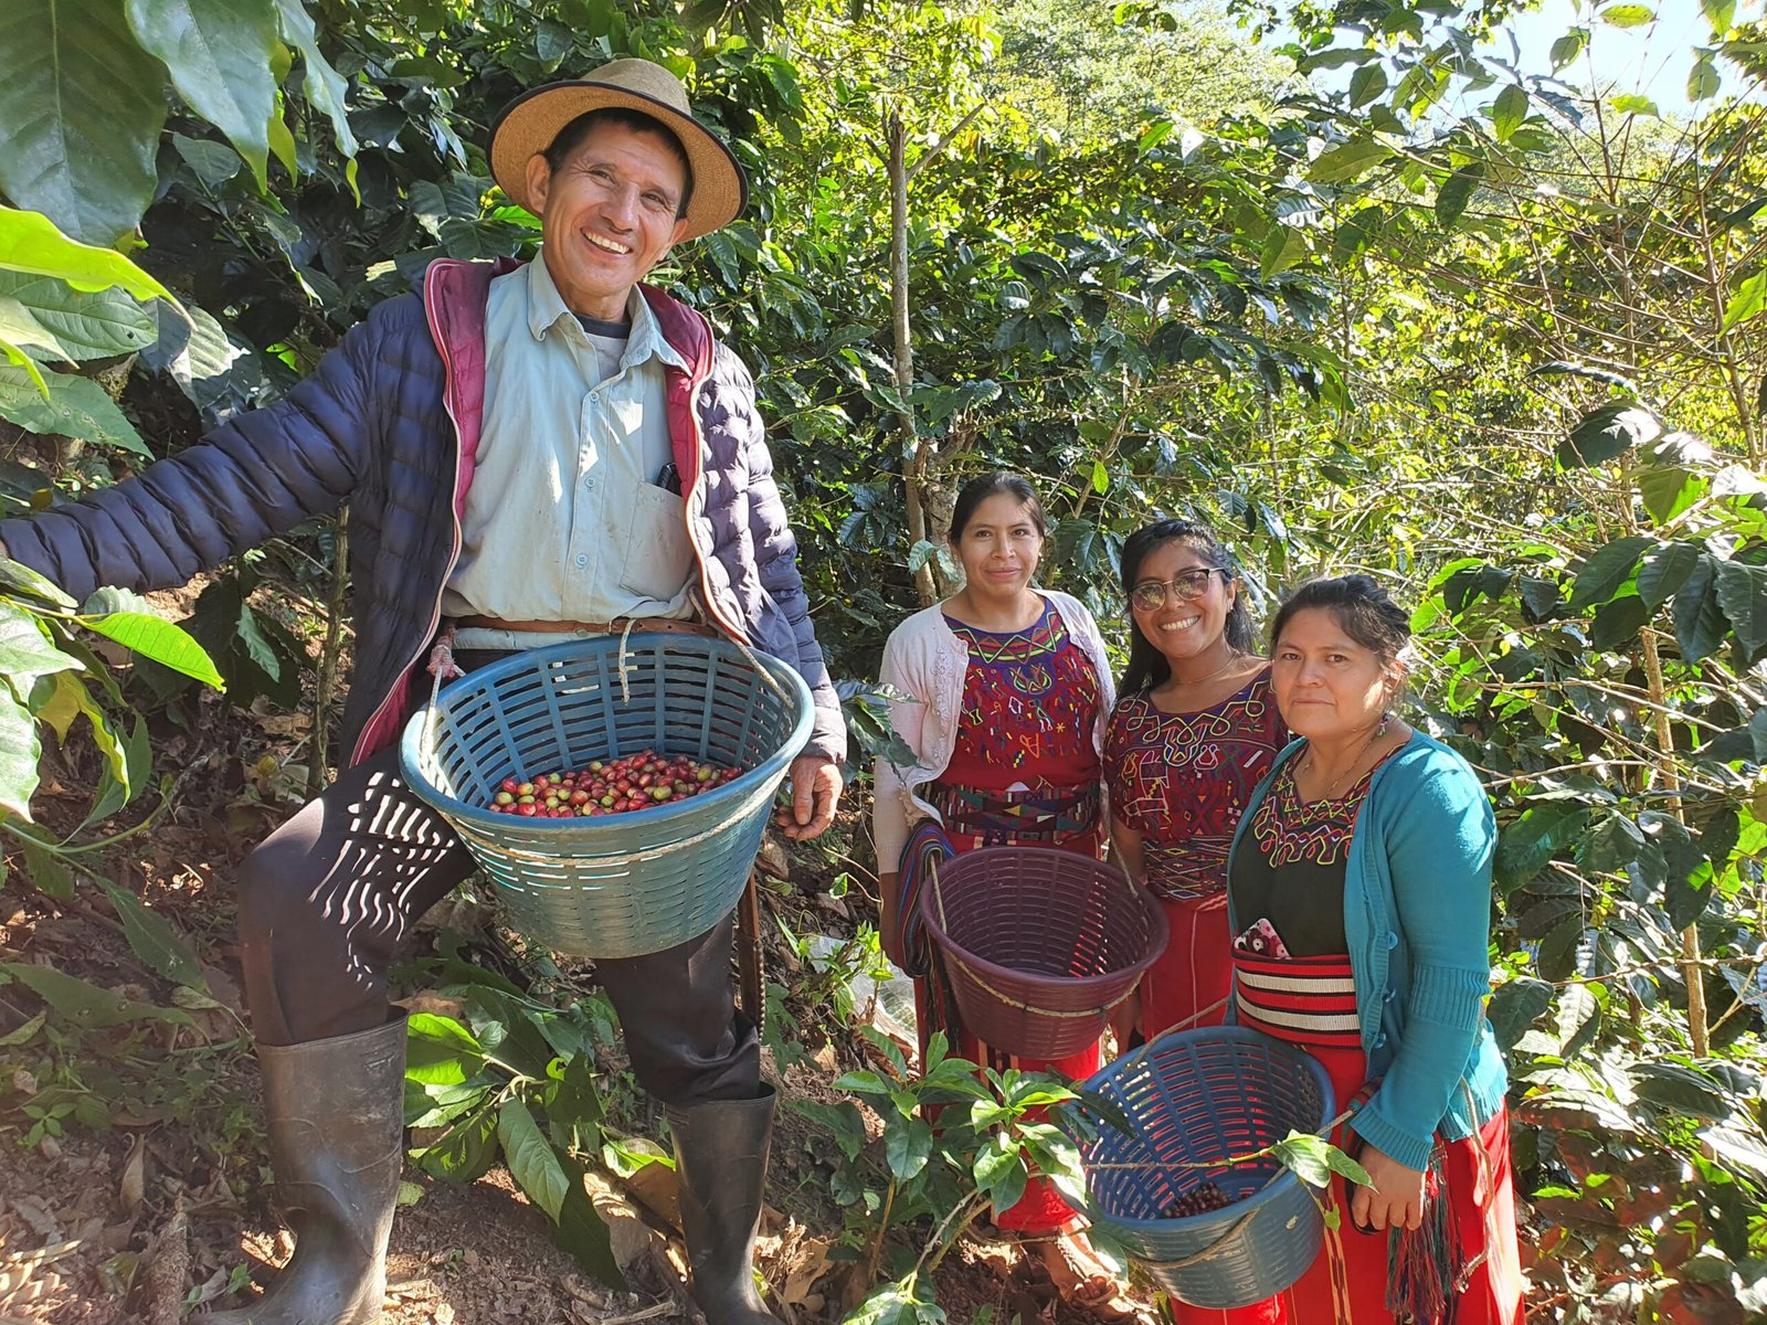
[[[1269,1035],[1304,1046],[1331,1078],[1339,1109],[1368,1085],[1368,1056],[1361,1044],[1345,1044],[1343,1018],[1354,1012],[1348,956],[1278,961],[1233,954],[1246,975],[1240,1019]],[[1272,993],[1270,977],[1285,993]],[[1260,980],[1262,977],[1262,980]],[[1309,996],[1304,984],[1318,980],[1322,993]],[[1253,993],[1262,984],[1263,993]],[[1260,1011],[1278,1019],[1265,1021]],[[1355,1134],[1348,1124],[1332,1134],[1348,1150]],[[1440,1309],[1415,1325],[1520,1325],[1521,1260],[1516,1253],[1516,1198],[1509,1164],[1509,1113],[1498,1109],[1477,1136],[1440,1141],[1440,1187],[1431,1200],[1447,1203],[1449,1244],[1460,1249],[1452,1286]],[[1205,1311],[1173,1302],[1173,1325],[1394,1325],[1387,1306],[1389,1235],[1357,1233],[1350,1224],[1350,1192],[1332,1175],[1323,1196],[1338,1210],[1336,1230],[1325,1230],[1318,1260],[1293,1286],[1272,1298],[1237,1311]],[[1426,1212],[1428,1219],[1428,1212]]]

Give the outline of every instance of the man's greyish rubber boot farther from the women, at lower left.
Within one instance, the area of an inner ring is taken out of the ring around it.
[[[276,1203],[295,1254],[258,1302],[200,1325],[371,1325],[405,1150],[405,1018],[325,1041],[258,1046]]]

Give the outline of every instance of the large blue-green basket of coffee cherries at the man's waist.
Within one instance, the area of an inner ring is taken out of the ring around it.
[[[636,958],[703,935],[737,905],[809,723],[797,671],[724,640],[574,640],[444,687],[406,723],[399,765],[497,883],[516,929],[555,952]],[[505,777],[641,749],[747,772],[627,814],[486,809]]]

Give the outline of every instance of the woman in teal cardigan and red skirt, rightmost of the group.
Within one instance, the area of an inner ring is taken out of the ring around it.
[[[1272,622],[1299,740],[1228,866],[1237,1019],[1302,1046],[1355,1113],[1371,1185],[1288,1291],[1230,1320],[1514,1325],[1504,1062],[1484,1018],[1497,827],[1477,776],[1392,716],[1410,625],[1368,576],[1315,579]],[[1352,1228],[1354,1226],[1354,1228]]]

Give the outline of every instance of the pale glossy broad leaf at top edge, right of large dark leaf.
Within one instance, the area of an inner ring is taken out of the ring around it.
[[[265,187],[276,111],[276,12],[267,0],[125,0],[186,104],[228,136]]]

